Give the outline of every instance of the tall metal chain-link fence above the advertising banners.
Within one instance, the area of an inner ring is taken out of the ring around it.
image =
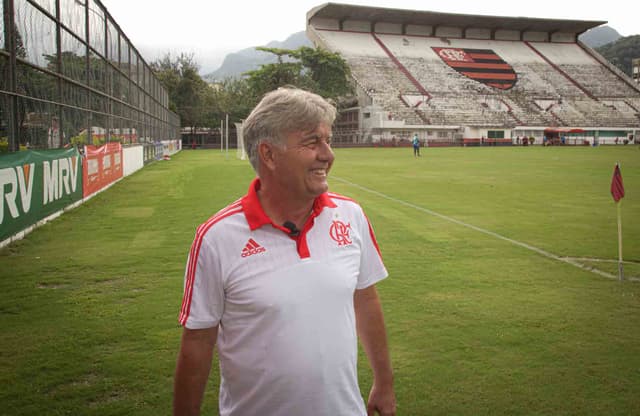
[[[167,92],[100,1],[0,8],[0,152],[180,138]]]

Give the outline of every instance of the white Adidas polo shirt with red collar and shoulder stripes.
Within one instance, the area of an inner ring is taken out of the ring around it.
[[[220,415],[366,415],[353,295],[387,276],[373,229],[325,193],[291,237],[259,188],[198,228],[185,273],[180,323],[219,325]]]

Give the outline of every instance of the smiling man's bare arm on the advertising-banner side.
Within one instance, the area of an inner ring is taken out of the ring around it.
[[[182,333],[173,384],[174,416],[199,415],[202,396],[211,370],[218,327],[187,329]]]

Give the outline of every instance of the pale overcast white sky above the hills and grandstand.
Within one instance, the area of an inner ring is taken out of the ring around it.
[[[322,0],[102,0],[147,62],[170,52],[192,53],[206,74],[224,57],[305,30],[306,14]],[[632,1],[349,0],[336,3],[493,16],[607,21],[622,36],[640,33]],[[577,5],[579,4],[579,5]]]

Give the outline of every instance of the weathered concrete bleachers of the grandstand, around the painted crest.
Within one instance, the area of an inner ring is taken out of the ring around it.
[[[637,125],[640,92],[577,43],[459,39],[318,29],[372,103],[407,125]],[[490,49],[517,80],[493,88],[450,67],[433,48]]]

